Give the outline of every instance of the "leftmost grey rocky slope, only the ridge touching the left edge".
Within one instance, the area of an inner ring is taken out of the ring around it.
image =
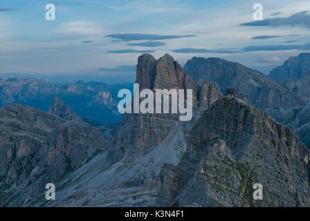
[[[44,139],[63,119],[26,106],[0,110],[0,184],[6,189],[26,182],[44,152]]]

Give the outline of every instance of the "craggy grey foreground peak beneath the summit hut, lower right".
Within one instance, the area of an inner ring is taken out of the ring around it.
[[[310,152],[293,131],[239,99],[213,104],[163,167],[156,206],[310,206]],[[264,200],[253,200],[253,184]]]

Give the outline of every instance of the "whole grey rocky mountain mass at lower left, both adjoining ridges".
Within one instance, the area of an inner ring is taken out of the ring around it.
[[[104,143],[89,124],[14,103],[0,110],[0,128],[1,206],[14,205],[25,187],[27,196],[42,193],[45,184],[78,169]]]

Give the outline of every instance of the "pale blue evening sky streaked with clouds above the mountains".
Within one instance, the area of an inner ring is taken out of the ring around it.
[[[46,4],[55,21],[46,20]],[[253,5],[263,20],[253,19]],[[1,0],[0,77],[134,81],[138,56],[221,57],[268,74],[310,50],[309,0]]]

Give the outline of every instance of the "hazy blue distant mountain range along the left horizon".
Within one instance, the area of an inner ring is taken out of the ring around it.
[[[117,93],[121,88],[133,90],[132,84],[108,85],[96,81],[54,85],[39,79],[0,79],[0,107],[15,102],[48,111],[56,96],[82,117],[115,123],[122,119],[117,111]]]

